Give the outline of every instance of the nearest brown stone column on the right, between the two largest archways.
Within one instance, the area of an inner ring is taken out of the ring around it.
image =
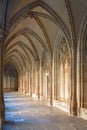
[[[75,48],[74,48],[75,49]],[[70,98],[70,114],[77,115],[77,65],[76,65],[76,49],[72,52],[71,57],[71,98]]]

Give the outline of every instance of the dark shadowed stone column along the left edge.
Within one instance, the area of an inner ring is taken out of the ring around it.
[[[5,108],[4,108],[4,97],[3,97],[3,45],[6,39],[7,32],[0,29],[0,129],[2,123],[5,121]]]

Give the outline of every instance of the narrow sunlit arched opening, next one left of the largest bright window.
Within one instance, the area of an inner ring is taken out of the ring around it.
[[[50,100],[50,60],[48,54],[42,51],[42,96],[44,100]]]

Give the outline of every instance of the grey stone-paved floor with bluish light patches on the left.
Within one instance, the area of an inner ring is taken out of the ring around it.
[[[5,93],[3,130],[87,130],[87,121],[18,93]]]

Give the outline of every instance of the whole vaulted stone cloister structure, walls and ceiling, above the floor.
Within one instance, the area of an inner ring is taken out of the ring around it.
[[[87,0],[0,0],[0,126],[6,91],[87,119]]]

